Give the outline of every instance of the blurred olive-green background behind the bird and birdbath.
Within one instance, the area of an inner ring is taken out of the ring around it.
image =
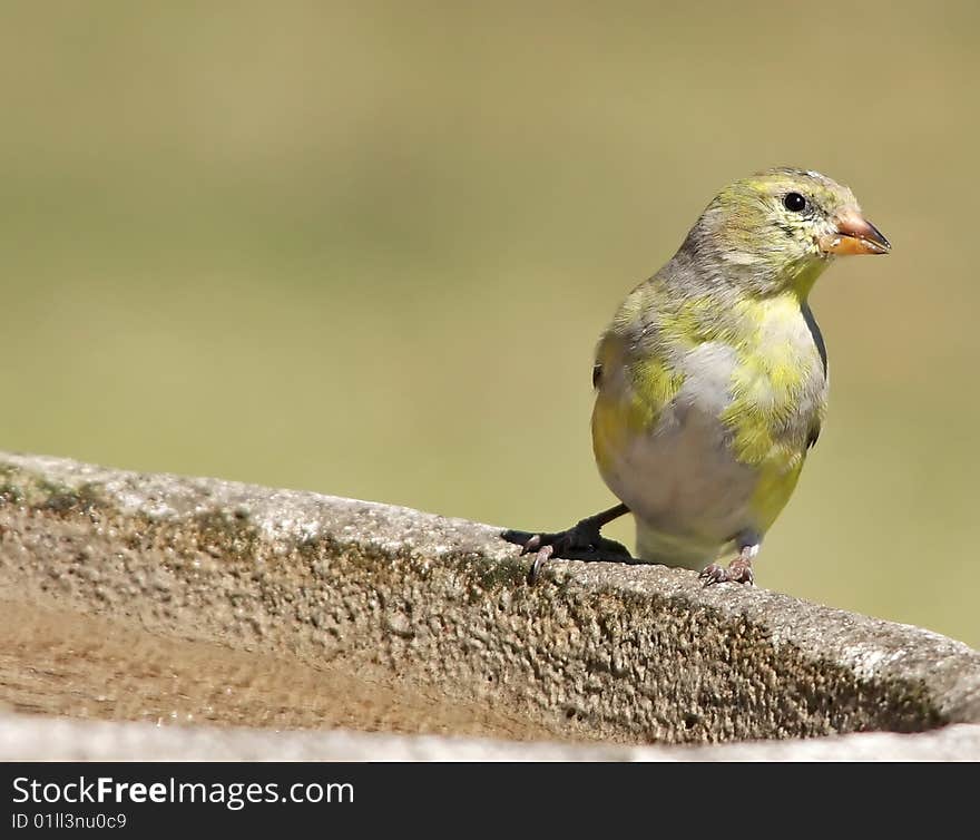
[[[0,447],[559,528],[726,182],[852,186],[761,584],[980,646],[976,3],[4,3]],[[631,544],[631,525],[610,530]]]

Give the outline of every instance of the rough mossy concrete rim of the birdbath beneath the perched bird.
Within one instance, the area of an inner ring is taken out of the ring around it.
[[[500,530],[0,455],[3,598],[535,727],[508,738],[705,743],[980,721],[980,654],[958,642],[656,566],[553,564],[531,588]]]

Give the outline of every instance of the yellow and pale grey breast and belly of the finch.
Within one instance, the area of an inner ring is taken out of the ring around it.
[[[608,353],[592,437],[600,471],[637,518],[724,541],[785,505],[826,393],[800,305],[744,313],[736,340]]]

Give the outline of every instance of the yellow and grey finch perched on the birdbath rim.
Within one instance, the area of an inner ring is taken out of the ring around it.
[[[890,251],[851,189],[812,169],[722,189],[597,345],[592,450],[619,504],[564,531],[506,533],[536,555],[529,582],[551,559],[606,551],[694,569],[705,586],[753,584],[826,412],[811,290],[839,256]],[[601,536],[630,512],[636,557]]]

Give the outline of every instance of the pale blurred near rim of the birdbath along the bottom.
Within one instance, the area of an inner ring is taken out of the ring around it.
[[[710,746],[516,743],[0,715],[0,761],[978,761],[980,725]]]

